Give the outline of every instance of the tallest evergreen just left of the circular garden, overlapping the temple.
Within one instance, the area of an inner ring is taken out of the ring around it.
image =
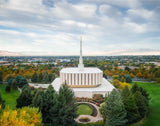
[[[67,84],[63,84],[59,89],[58,95],[58,117],[55,117],[55,109],[51,110],[52,125],[54,126],[77,126],[75,118],[77,115],[76,99],[74,92],[68,87]],[[55,119],[56,118],[56,119]]]

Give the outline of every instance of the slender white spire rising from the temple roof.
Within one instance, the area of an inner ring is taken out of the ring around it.
[[[82,36],[80,36],[80,58],[78,68],[80,71],[84,70],[83,58],[82,58]]]

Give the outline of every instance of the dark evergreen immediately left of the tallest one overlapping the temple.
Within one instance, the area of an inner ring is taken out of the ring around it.
[[[40,111],[42,112],[42,117],[43,117],[43,122],[44,123],[51,123],[52,122],[52,117],[51,114],[56,114],[56,117],[58,116],[57,112],[51,113],[50,110],[51,108],[56,108],[56,92],[52,85],[49,85],[46,91],[44,92],[43,95],[43,101],[40,104]],[[58,109],[57,109],[58,111]]]

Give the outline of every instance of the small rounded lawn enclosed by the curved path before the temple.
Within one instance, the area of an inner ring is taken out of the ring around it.
[[[77,113],[79,115],[91,115],[92,109],[87,104],[80,104]]]

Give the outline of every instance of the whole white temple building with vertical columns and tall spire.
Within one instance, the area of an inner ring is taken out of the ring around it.
[[[61,84],[67,83],[76,97],[92,98],[94,94],[108,95],[115,87],[105,78],[103,71],[97,67],[84,67],[82,58],[82,37],[80,39],[80,58],[78,67],[63,68],[60,78],[52,82],[52,86],[59,91]]]

